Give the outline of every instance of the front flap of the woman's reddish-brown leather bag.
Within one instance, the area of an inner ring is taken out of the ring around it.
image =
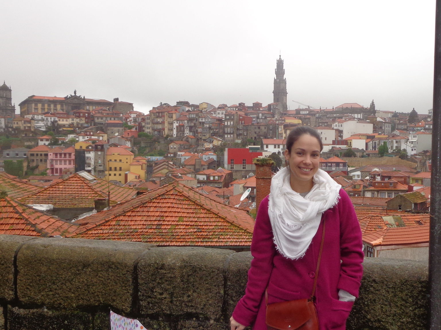
[[[314,303],[311,301],[310,304]],[[276,329],[294,330],[310,318],[308,299],[282,301],[266,306],[266,324]]]

